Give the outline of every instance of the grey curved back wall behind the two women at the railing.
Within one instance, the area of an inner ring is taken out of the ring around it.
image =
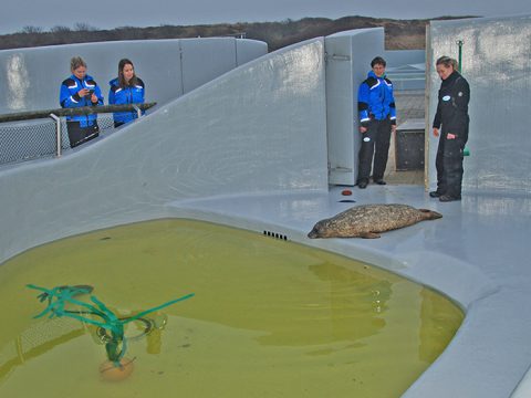
[[[128,57],[146,84],[146,102],[165,104],[267,54],[268,45],[235,38],[138,40],[0,51],[0,114],[60,107],[70,59],[81,55],[107,103],[108,82]]]

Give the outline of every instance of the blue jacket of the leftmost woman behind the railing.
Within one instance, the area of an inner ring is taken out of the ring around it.
[[[59,103],[61,104],[61,107],[66,108],[95,105],[92,103],[90,96],[79,96],[77,93],[82,88],[93,90],[97,97],[96,105],[103,105],[102,91],[92,76],[85,75],[83,80],[79,80],[72,75],[61,83],[61,90],[59,93]],[[96,119],[97,115],[66,116],[66,121],[79,122],[81,127],[93,126],[96,123]]]

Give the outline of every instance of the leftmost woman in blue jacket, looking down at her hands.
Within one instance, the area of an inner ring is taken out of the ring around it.
[[[94,78],[86,74],[86,63],[81,56],[70,61],[72,75],[61,83],[59,103],[61,107],[82,107],[103,105],[103,95]],[[70,146],[76,147],[100,134],[97,115],[66,116]]]

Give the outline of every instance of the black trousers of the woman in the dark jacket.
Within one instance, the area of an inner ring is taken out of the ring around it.
[[[462,151],[467,142],[461,138],[448,139],[448,134],[439,137],[435,167],[437,169],[437,191],[452,198],[461,197]]]

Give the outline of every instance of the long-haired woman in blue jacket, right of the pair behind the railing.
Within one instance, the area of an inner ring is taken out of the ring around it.
[[[108,92],[108,103],[111,105],[144,103],[144,82],[135,74],[135,66],[129,60],[119,60],[118,77],[113,78],[108,84],[111,84]],[[138,114],[136,111],[116,112],[113,114],[114,127],[122,126],[137,117]]]

